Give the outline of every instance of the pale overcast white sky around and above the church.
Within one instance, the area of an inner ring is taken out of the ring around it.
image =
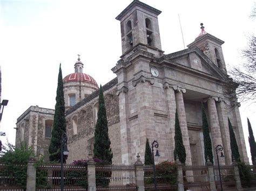
[[[55,107],[59,63],[63,77],[74,72],[77,54],[84,63],[84,73],[104,85],[116,75],[112,73],[122,55],[120,23],[116,16],[131,0],[44,1],[0,0],[0,65],[2,67],[2,100],[5,107],[0,131],[6,132],[2,142],[15,144],[16,120],[31,105]],[[224,40],[227,67],[242,65],[240,50],[247,38],[255,34],[255,21],[250,18],[253,0],[144,0],[161,10],[159,28],[165,54],[184,49],[205,31]],[[256,136],[255,105],[240,107],[247,152],[250,118]]]

